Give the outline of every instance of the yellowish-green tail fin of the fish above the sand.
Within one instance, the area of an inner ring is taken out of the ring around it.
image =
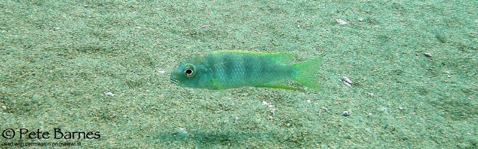
[[[317,74],[319,73],[321,61],[322,58],[317,57],[305,62],[292,64],[292,67],[297,70],[297,73],[292,79],[311,89],[319,90],[321,85],[319,83],[320,79]]]

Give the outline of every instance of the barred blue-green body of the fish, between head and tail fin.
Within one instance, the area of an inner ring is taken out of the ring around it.
[[[218,54],[208,60],[212,74],[222,87],[257,86],[271,80],[286,79],[292,76],[290,65],[280,64],[267,57]]]

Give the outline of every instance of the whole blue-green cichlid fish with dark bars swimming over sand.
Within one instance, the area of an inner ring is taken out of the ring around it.
[[[214,51],[179,64],[171,73],[171,82],[180,86],[228,89],[236,87],[272,87],[296,90],[285,80],[295,80],[319,90],[320,57],[292,64],[296,54]]]

